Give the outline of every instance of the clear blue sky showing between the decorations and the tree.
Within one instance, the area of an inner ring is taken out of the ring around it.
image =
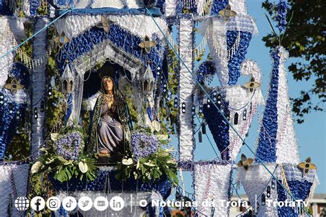
[[[261,70],[263,72],[263,82],[262,82],[262,90],[263,96],[266,97],[268,82],[270,80],[269,75],[271,71],[272,60],[270,58],[270,50],[265,47],[261,38],[266,34],[270,33],[272,30],[270,25],[265,18],[265,10],[261,8],[261,3],[263,0],[247,0],[248,13],[250,16],[254,18],[254,21],[257,24],[257,28],[259,31],[258,36],[254,36],[248,48],[248,54],[246,58],[250,58],[259,63]],[[197,36],[197,41],[201,41],[201,37]],[[286,47],[285,47],[286,49]],[[291,59],[287,60],[286,66],[290,65],[290,62],[293,61]],[[303,60],[304,61],[304,60]],[[307,90],[309,87],[312,87],[312,81],[303,81],[296,82],[292,78],[292,74],[288,73],[288,87],[289,87],[289,95],[291,98],[296,98],[301,90]],[[314,99],[317,100],[317,99]],[[259,115],[263,115],[263,106],[259,108]],[[316,188],[316,193],[325,193],[326,192],[326,172],[323,169],[323,166],[326,165],[326,138],[325,138],[325,113],[323,112],[314,112],[308,115],[305,115],[305,122],[303,124],[296,124],[295,122],[295,130],[296,137],[298,139],[300,158],[302,161],[305,160],[306,157],[312,157],[312,163],[315,163],[318,168],[318,178],[320,181],[320,185]],[[252,127],[249,130],[249,137],[246,138],[247,144],[254,150],[255,141],[257,139],[259,130],[259,123],[257,114],[255,116],[254,121],[252,122]],[[195,136],[197,140],[197,135]],[[210,141],[213,141],[213,145],[215,146],[215,150],[217,150],[216,145],[214,143],[213,138],[210,135]],[[173,138],[173,144],[177,144],[177,139]],[[203,143],[196,144],[197,149],[195,150],[195,160],[210,160],[214,159],[216,155],[213,152],[213,149],[210,147],[208,140],[203,137]],[[241,148],[241,153],[247,155],[247,157],[252,157],[252,153],[248,150],[247,147]],[[239,158],[239,155],[238,155]],[[190,172],[184,172],[184,183],[186,186],[186,191],[193,192],[192,185],[192,177]],[[234,175],[234,182],[235,182]],[[239,190],[239,194],[244,194],[243,188]]]

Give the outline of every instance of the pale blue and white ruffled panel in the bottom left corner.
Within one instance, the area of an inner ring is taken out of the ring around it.
[[[19,162],[0,163],[0,216],[8,216],[8,205],[12,216],[21,216],[14,207],[14,200],[18,196],[27,197],[28,173],[30,165],[28,163],[21,164]],[[10,201],[11,194],[12,201]]]

